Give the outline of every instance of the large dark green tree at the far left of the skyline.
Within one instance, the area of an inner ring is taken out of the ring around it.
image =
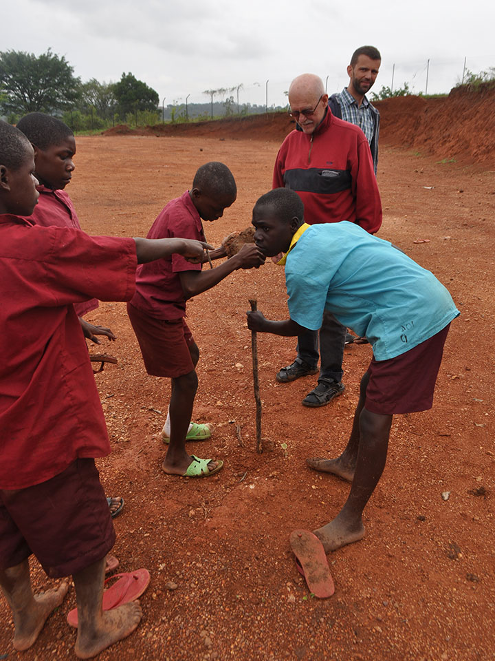
[[[0,88],[3,112],[25,114],[63,110],[78,98],[80,78],[65,57],[47,52],[0,52]]]

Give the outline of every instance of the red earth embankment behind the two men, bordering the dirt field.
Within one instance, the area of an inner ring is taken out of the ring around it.
[[[391,147],[416,147],[424,154],[445,160],[483,167],[495,164],[495,83],[456,87],[448,96],[423,98],[397,96],[377,101],[380,110],[380,144]],[[295,128],[285,112],[270,112],[248,117],[156,124],[129,129],[115,126],[104,135],[217,137],[239,140],[276,140]]]

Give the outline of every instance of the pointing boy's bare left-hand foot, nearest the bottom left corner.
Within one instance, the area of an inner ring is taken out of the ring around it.
[[[14,647],[23,651],[31,647],[38,638],[45,622],[63,602],[69,584],[65,581],[57,588],[34,595],[34,607],[29,613],[14,613]]]

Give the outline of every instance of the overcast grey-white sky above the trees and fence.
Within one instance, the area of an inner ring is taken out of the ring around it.
[[[375,83],[448,92],[467,68],[495,67],[493,0],[1,0],[0,50],[52,48],[83,81],[122,72],[165,105],[208,101],[203,90],[243,85],[239,102],[285,105],[298,74],[319,74],[328,92],[347,85],[351,53],[375,45]],[[269,83],[266,85],[266,81]],[[234,97],[236,92],[234,92]]]

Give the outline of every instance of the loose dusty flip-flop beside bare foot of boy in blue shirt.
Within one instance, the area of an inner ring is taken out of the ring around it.
[[[335,585],[325,549],[318,537],[309,530],[294,530],[289,536],[289,543],[298,560],[298,571],[305,577],[311,594],[319,599],[331,597]]]

